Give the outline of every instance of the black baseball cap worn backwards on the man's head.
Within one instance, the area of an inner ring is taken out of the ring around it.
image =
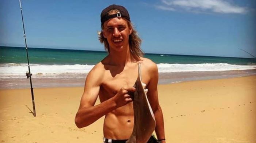
[[[118,9],[120,12],[118,12],[114,15],[108,15],[108,11],[110,11],[111,9]],[[123,17],[123,18],[127,19],[128,21],[130,21],[130,15],[125,7],[123,7],[121,5],[112,4],[112,5],[108,6],[107,8],[103,9],[103,11],[101,12],[101,14],[100,14],[101,25],[103,25],[105,21],[115,18],[115,17]]]

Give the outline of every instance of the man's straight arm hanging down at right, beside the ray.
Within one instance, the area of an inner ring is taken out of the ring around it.
[[[155,63],[153,63],[150,66],[149,75],[150,75],[150,81],[146,88],[148,89],[147,97],[149,99],[149,103],[152,107],[152,110],[156,119],[155,132],[157,135],[157,139],[161,140],[161,143],[165,143],[164,117],[158,102],[158,93],[157,93],[158,69]]]

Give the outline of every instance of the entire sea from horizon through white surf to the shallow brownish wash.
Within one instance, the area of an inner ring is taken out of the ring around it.
[[[83,86],[87,73],[107,52],[28,48],[28,56],[37,87]],[[256,75],[253,58],[170,54],[145,54],[145,57],[157,64],[160,83]],[[25,48],[0,46],[0,88],[26,88],[27,71]],[[46,81],[44,85],[39,82],[42,79]],[[69,84],[64,85],[63,81]]]

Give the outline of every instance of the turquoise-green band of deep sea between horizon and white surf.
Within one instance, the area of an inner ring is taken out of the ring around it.
[[[28,48],[28,54],[31,64],[95,65],[107,55],[107,52],[70,49]],[[256,65],[255,58],[188,56],[171,54],[145,54],[145,57],[151,59],[156,64],[226,63],[232,65]],[[0,46],[0,64],[8,63],[27,63],[26,49],[20,47]]]

